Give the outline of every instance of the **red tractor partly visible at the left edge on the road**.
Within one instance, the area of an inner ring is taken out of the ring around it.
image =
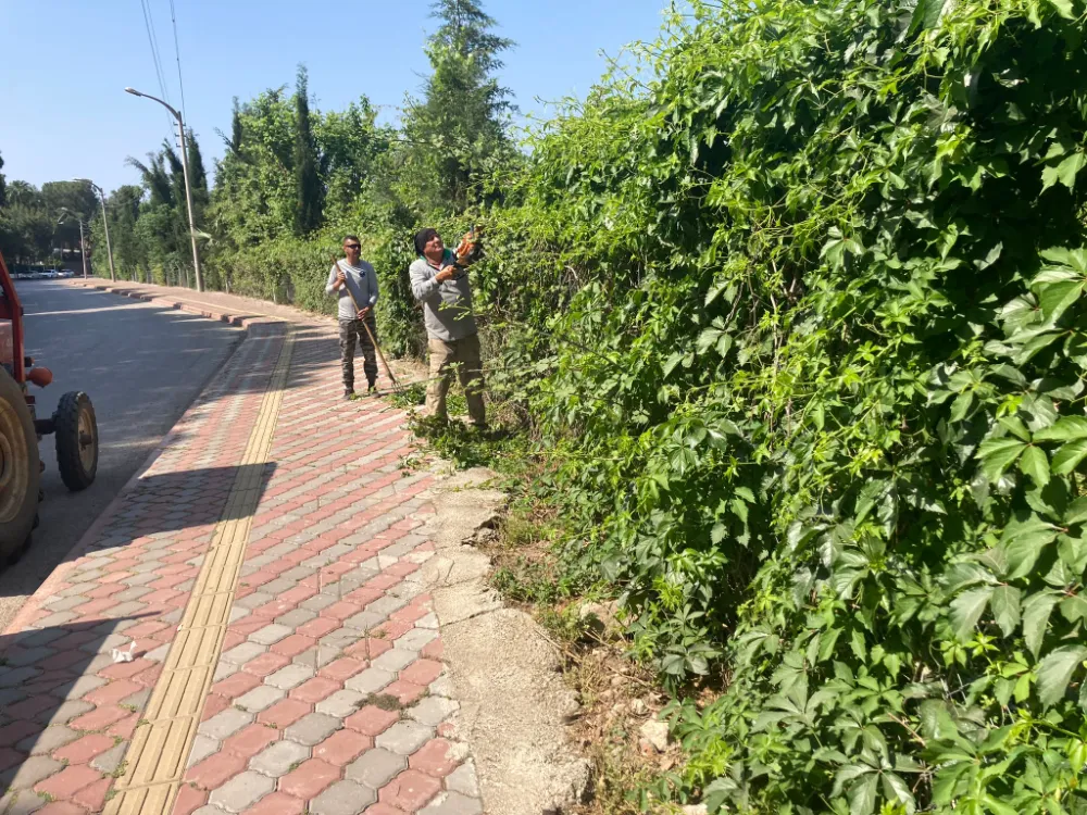
[[[43,435],[57,436],[57,466],[70,490],[86,489],[98,472],[98,423],[86,393],[62,396],[51,418],[36,415],[27,383],[43,388],[52,379],[24,355],[23,306],[0,255],[0,567],[26,551],[38,525]]]

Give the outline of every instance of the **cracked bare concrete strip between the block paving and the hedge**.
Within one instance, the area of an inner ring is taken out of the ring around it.
[[[505,505],[486,487],[495,478],[475,468],[435,488],[436,514],[418,530],[435,554],[420,579],[434,598],[460,702],[454,726],[475,758],[487,812],[559,815],[589,789],[589,763],[566,738],[578,702],[554,648],[532,617],[502,605],[487,586],[490,559],[472,546]]]

